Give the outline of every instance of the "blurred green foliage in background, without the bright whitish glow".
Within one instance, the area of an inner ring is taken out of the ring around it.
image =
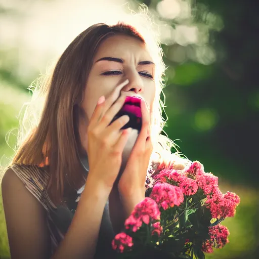
[[[155,6],[160,1],[139,2]],[[201,161],[205,171],[219,177],[222,190],[236,192],[241,198],[235,218],[224,221],[231,233],[230,243],[206,258],[253,259],[259,252],[259,16],[252,0],[197,0],[196,4],[205,4],[223,19],[224,28],[210,32],[209,44],[217,61],[209,65],[190,60],[173,62],[168,58],[172,46],[162,46],[168,66],[164,93],[169,120],[164,130],[169,138],[181,140],[176,143],[189,159]],[[200,13],[195,19],[202,19]],[[1,67],[0,75],[2,86],[12,85],[15,104],[30,81],[24,84],[16,74]],[[4,100],[2,96],[0,154],[9,157],[13,151],[5,138],[11,128],[18,126],[20,106],[14,108]],[[0,258],[9,258],[1,204],[0,218]]]

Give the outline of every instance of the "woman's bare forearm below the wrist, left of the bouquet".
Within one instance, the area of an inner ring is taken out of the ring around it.
[[[109,190],[88,179],[71,225],[52,259],[92,259]]]

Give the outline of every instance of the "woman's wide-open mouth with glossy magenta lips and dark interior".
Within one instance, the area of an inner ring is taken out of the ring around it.
[[[128,115],[130,120],[121,128],[121,130],[132,127],[140,132],[142,125],[141,98],[136,96],[127,96],[124,105],[114,116],[111,123],[122,115]]]

